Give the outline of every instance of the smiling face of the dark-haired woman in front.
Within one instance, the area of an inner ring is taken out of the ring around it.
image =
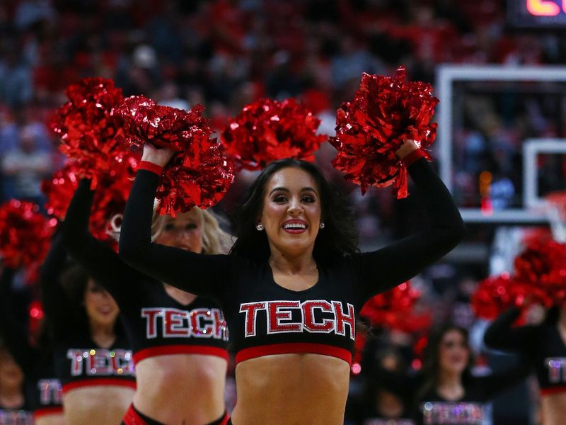
[[[258,221],[265,228],[272,250],[301,254],[314,247],[321,212],[313,176],[288,167],[275,172],[267,182]]]

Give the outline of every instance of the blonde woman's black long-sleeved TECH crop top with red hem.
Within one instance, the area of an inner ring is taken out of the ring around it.
[[[166,293],[163,283],[128,266],[88,233],[92,200],[90,181],[81,181],[65,217],[64,246],[116,300],[134,361],[180,353],[227,359],[226,321],[216,302],[196,297],[183,305]]]

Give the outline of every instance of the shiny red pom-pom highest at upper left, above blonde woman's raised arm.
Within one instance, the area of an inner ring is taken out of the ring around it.
[[[67,97],[69,102],[54,113],[50,127],[61,137],[61,152],[96,187],[97,176],[112,169],[129,149],[117,138],[122,120],[114,113],[124,101],[122,89],[110,79],[86,78],[69,86]]]

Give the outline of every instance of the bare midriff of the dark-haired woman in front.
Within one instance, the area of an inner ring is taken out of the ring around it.
[[[342,425],[350,365],[310,353],[251,358],[236,366],[234,425]]]

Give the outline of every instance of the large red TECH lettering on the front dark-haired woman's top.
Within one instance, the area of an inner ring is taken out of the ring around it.
[[[266,320],[267,334],[308,332],[355,339],[354,306],[349,302],[346,308],[340,301],[326,300],[245,302],[240,305],[240,312],[245,314],[246,338],[255,336],[259,321]]]

